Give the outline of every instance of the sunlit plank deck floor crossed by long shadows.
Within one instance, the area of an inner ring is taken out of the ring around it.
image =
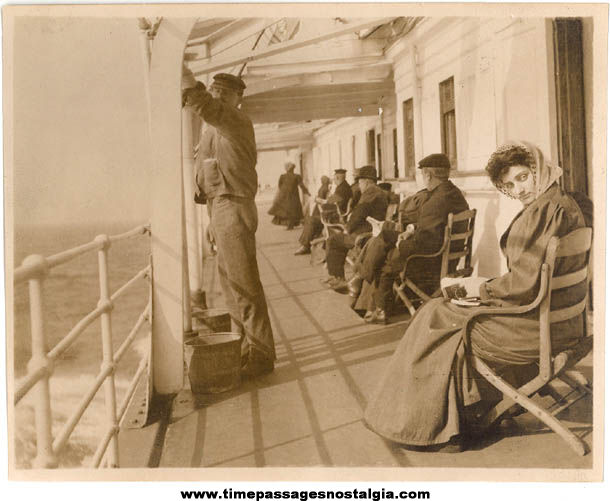
[[[220,395],[196,396],[185,389],[163,430],[156,432],[148,466],[591,468],[592,454],[577,456],[527,416],[517,418],[518,433],[489,437],[476,450],[460,454],[408,451],[365,428],[367,399],[408,317],[387,327],[364,324],[348,307],[348,296],[321,285],[321,266],[293,255],[300,229],[273,226],[266,209],[259,207],[258,260],[276,340],[276,369]],[[208,294],[209,303],[222,301],[218,291]],[[581,368],[591,376],[587,360]],[[591,406],[585,399],[568,416],[589,446]]]

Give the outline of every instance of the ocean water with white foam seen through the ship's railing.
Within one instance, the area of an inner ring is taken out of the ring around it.
[[[15,264],[19,265],[29,254],[49,256],[84,244],[96,235],[114,235],[127,231],[137,224],[91,224],[78,226],[20,226],[14,235]],[[150,238],[140,236],[113,243],[108,255],[111,294],[146,267],[150,255]],[[13,364],[16,380],[27,371],[31,357],[29,318],[29,293],[27,284],[15,288]],[[114,351],[129,334],[146,307],[149,284],[138,281],[118,299],[112,311]],[[69,263],[54,268],[43,286],[44,329],[47,348],[51,349],[74,325],[93,310],[99,300],[97,252],[90,252]],[[7,304],[7,310],[11,305]],[[148,324],[145,323],[132,347],[127,350],[115,373],[117,407],[129,386],[140,359],[147,354]],[[93,322],[64,353],[55,366],[51,378],[51,408],[53,434],[57,435],[63,424],[76,409],[79,401],[100,370],[102,362],[101,327],[99,319]],[[59,457],[64,468],[87,466],[105,430],[103,386],[81,418],[71,435],[68,446]],[[26,395],[15,408],[15,462],[18,468],[29,468],[36,454],[33,398]]]

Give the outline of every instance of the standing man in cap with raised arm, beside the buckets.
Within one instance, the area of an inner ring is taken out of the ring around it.
[[[238,108],[245,88],[241,78],[218,73],[209,92],[201,82],[185,89],[182,105],[206,123],[198,189],[207,198],[208,239],[216,242],[226,305],[242,334],[242,376],[255,377],[273,371],[275,344],[256,262],[256,142],[252,121]]]

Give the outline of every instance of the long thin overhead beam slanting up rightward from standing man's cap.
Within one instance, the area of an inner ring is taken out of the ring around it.
[[[291,40],[289,42],[274,44],[263,49],[254,50],[248,55],[242,56],[232,56],[225,59],[221,59],[219,61],[212,62],[204,66],[203,68],[198,68],[197,70],[193,70],[193,73],[196,75],[204,75],[214,71],[222,70],[224,68],[229,68],[231,66],[235,66],[238,64],[248,63],[251,61],[257,61],[259,59],[264,59],[267,57],[275,56],[277,54],[281,54],[282,52],[291,51],[295,49],[300,49],[302,47],[307,47],[309,45],[314,45],[316,43],[324,42],[325,40],[331,40],[333,38],[337,38],[343,35],[347,35],[350,33],[354,33],[356,31],[360,31],[371,26],[377,26],[379,24],[384,24],[391,21],[392,17],[381,17],[375,19],[368,19],[366,21],[355,22],[351,24],[346,24],[341,26],[336,30],[331,30],[328,33],[324,33],[306,40]]]

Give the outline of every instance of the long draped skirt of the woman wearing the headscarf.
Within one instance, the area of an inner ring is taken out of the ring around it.
[[[375,432],[408,445],[442,444],[464,431],[468,406],[498,398],[465,356],[462,329],[470,313],[444,298],[417,312],[365,411]],[[539,357],[536,315],[480,317],[470,328],[473,353],[494,367],[531,366]],[[554,324],[553,351],[577,341],[582,329],[574,322]]]

